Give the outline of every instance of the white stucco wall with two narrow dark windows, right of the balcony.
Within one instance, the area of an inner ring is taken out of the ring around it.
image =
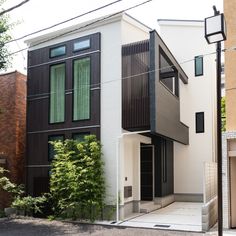
[[[174,143],[174,192],[203,193],[204,162],[215,160],[215,55],[204,56],[204,75],[195,77],[195,56],[215,51],[203,22],[160,21],[160,35],[189,77],[180,83],[180,119],[189,126],[189,145]],[[195,132],[195,113],[204,112],[205,132]]]

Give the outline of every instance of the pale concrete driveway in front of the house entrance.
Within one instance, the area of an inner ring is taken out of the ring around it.
[[[202,231],[202,203],[174,202],[150,213],[120,223],[122,226]]]

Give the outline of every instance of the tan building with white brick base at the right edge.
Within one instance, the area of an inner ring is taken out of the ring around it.
[[[224,0],[224,14],[227,25],[225,48],[236,46],[236,10],[235,1]],[[223,226],[236,227],[236,52],[226,50],[225,56],[225,100],[226,100],[226,132],[223,133]]]

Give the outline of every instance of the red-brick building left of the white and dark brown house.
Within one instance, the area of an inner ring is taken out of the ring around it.
[[[24,182],[26,139],[26,76],[18,71],[0,74],[0,166],[9,178]],[[8,206],[9,195],[0,191],[0,209]]]

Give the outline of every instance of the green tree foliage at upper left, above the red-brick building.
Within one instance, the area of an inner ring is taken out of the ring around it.
[[[6,0],[0,0],[0,9]],[[9,55],[9,49],[6,42],[11,40],[9,30],[13,27],[13,24],[9,23],[9,16],[3,14],[0,16],[0,70],[7,69],[10,64],[11,56]]]

